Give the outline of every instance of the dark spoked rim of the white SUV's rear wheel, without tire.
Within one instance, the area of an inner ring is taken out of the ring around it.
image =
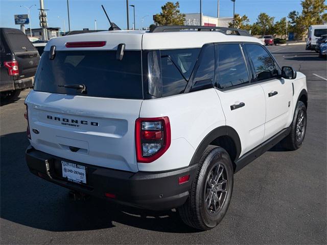
[[[228,179],[223,164],[217,163],[208,173],[204,190],[204,205],[209,214],[217,214],[227,196]]]

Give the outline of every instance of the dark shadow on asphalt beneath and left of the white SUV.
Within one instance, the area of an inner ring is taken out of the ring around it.
[[[198,232],[182,223],[176,211],[148,211],[89,198],[73,201],[68,190],[36,177],[25,162],[26,132],[1,136],[2,219],[48,231],[83,231],[114,227],[114,222],[146,230]]]

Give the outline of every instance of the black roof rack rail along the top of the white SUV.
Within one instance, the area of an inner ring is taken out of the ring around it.
[[[200,26],[200,25],[158,25],[153,26],[149,33],[158,33],[158,32],[179,32],[182,30],[196,30],[196,31],[219,31],[224,34],[227,34],[227,31],[230,31],[230,34],[227,35],[238,35],[238,36],[251,36],[248,31],[235,29],[235,28],[227,28],[220,26]]]

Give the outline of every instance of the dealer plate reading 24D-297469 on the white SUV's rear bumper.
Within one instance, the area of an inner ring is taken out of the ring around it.
[[[62,178],[78,184],[87,183],[87,167],[68,160],[61,160]]]

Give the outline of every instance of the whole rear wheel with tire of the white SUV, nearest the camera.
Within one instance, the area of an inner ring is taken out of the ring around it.
[[[221,147],[208,146],[198,163],[189,198],[178,208],[182,221],[198,230],[216,227],[231,200],[233,174],[228,153]]]

